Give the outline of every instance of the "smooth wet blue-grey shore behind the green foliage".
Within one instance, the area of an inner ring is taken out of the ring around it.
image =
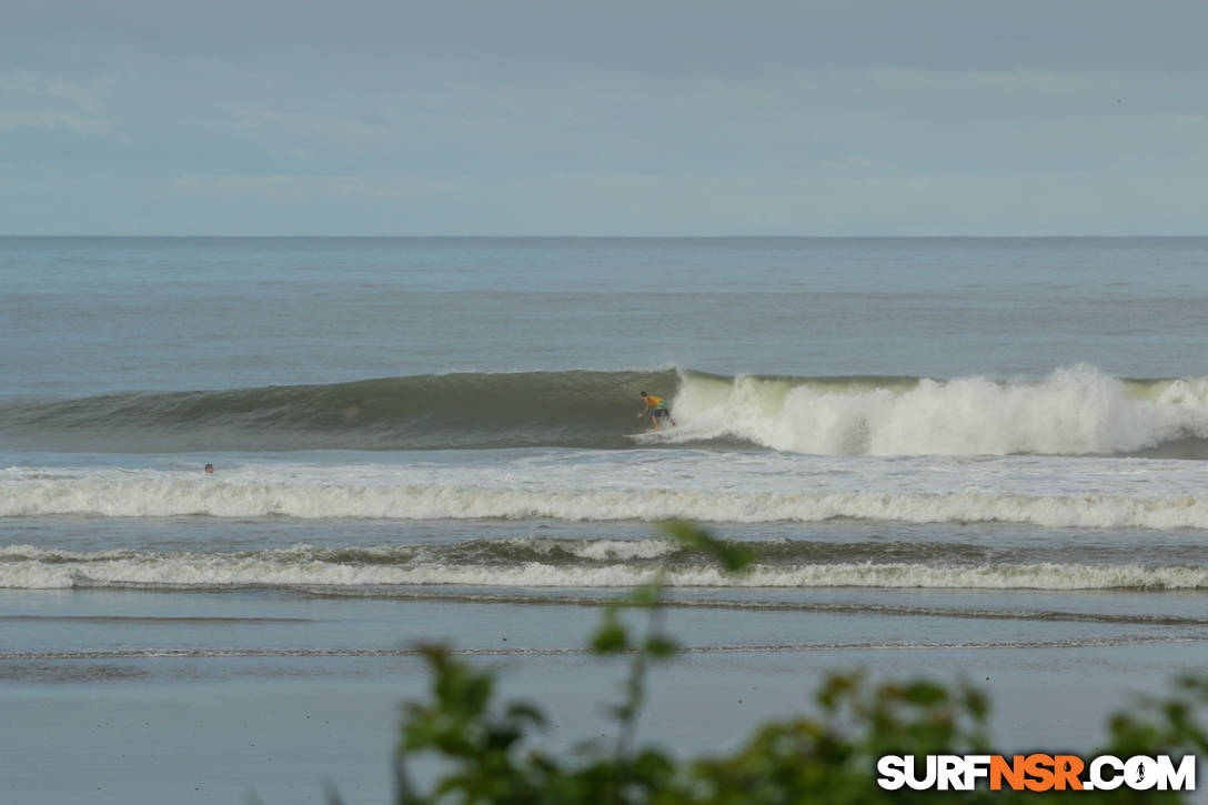
[[[277,805],[321,803],[330,782],[348,803],[390,800],[397,705],[423,695],[428,682],[418,659],[314,658],[292,668],[257,659],[211,661],[227,666],[222,677],[198,678],[185,662],[170,678],[0,685],[0,707],[10,716],[0,732],[5,788],[14,801],[35,805]],[[732,748],[762,722],[811,710],[826,671],[864,667],[875,679],[971,681],[991,696],[997,751],[1085,752],[1129,693],[1162,694],[1171,677],[1206,665],[1204,643],[1161,651],[690,654],[652,671],[640,735],[681,755]],[[538,700],[546,710],[551,747],[614,734],[602,713],[620,695],[623,659],[512,656],[494,667],[501,670],[501,701]]]

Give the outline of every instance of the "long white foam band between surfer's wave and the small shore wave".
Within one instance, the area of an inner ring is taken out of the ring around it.
[[[0,516],[284,516],[300,519],[573,521],[668,519],[914,523],[1015,522],[1045,527],[1208,528],[1208,496],[1003,492],[720,492],[715,490],[507,490],[463,486],[205,483],[179,477],[28,481],[0,497]],[[609,548],[592,550],[606,552]],[[654,550],[654,549],[643,549]]]

